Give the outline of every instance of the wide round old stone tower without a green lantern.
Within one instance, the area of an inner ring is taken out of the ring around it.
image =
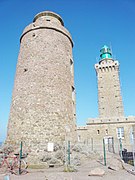
[[[64,141],[67,131],[76,140],[73,42],[63,20],[37,14],[20,43],[6,142],[38,152]]]

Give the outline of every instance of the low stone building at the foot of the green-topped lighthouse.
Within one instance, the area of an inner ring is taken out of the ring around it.
[[[119,152],[119,137],[118,128],[124,129],[122,137],[123,148],[128,151],[132,151],[132,127],[135,125],[135,117],[115,117],[113,119],[88,119],[85,127],[78,127],[77,133],[80,138],[80,142],[88,143],[91,145],[91,149],[97,152],[103,151],[103,138],[113,137],[114,150],[116,153]],[[108,145],[107,145],[108,146]],[[107,147],[108,148],[108,147]]]

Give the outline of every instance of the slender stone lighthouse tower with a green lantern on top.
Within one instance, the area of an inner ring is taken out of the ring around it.
[[[120,91],[119,63],[112,58],[109,47],[103,46],[100,52],[100,61],[95,64],[98,81],[99,117],[124,116]]]

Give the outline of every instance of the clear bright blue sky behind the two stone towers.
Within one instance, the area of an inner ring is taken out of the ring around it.
[[[94,64],[106,44],[120,62],[125,115],[135,115],[134,0],[0,0],[0,141],[6,136],[19,38],[34,16],[54,11],[64,20],[73,41],[77,124],[98,116]]]

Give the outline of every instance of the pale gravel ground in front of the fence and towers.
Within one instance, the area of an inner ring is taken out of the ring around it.
[[[105,175],[88,176],[89,172],[93,168],[101,168],[105,171]],[[128,166],[128,168],[132,168]],[[126,170],[113,171],[98,163],[95,160],[85,162],[83,165],[77,167],[77,172],[63,172],[63,167],[49,168],[42,170],[29,170],[26,175],[9,175],[8,178],[4,178],[6,175],[0,175],[0,180],[135,180],[135,175],[132,175]]]

